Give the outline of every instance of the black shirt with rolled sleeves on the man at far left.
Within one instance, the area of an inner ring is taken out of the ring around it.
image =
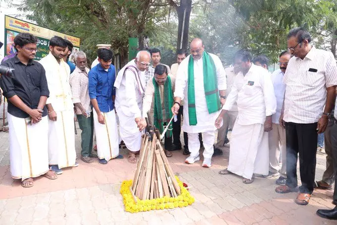
[[[29,60],[25,65],[17,56],[14,56],[3,61],[1,65],[15,69],[11,77],[0,77],[0,87],[4,97],[8,99],[17,95],[31,109],[37,109],[41,96],[49,97],[46,71],[39,62]],[[8,101],[8,113],[19,118],[29,117],[26,112],[15,107],[10,101]],[[47,113],[45,106],[42,116],[46,116]]]

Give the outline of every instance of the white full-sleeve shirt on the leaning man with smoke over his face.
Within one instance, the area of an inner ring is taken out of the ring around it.
[[[239,72],[223,110],[230,111],[235,102],[238,124],[264,124],[266,116],[276,112],[276,98],[269,72],[253,63],[245,76]]]

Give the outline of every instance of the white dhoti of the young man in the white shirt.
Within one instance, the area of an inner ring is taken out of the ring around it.
[[[74,111],[56,112],[57,120],[49,121],[49,165],[58,168],[73,167],[76,160]]]

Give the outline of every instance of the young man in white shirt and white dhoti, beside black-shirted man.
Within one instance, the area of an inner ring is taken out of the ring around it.
[[[46,70],[50,96],[47,100],[49,165],[57,174],[61,168],[77,167],[74,134],[74,105],[69,84],[70,68],[62,57],[67,43],[58,36],[49,42],[50,53],[40,63]]]

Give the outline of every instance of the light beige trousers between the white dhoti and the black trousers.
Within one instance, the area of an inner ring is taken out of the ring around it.
[[[285,129],[280,124],[273,123],[273,129],[269,131],[269,171],[277,173],[280,171],[282,177],[286,178],[286,143]],[[280,155],[282,154],[282,166],[280,169]]]

